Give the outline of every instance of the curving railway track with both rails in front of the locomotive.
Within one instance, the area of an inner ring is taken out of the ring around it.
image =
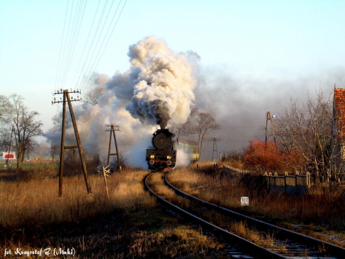
[[[255,258],[344,258],[345,249],[335,244],[304,236],[301,233],[283,229],[282,227],[277,227],[262,220],[250,218],[189,195],[170,184],[167,180],[168,173],[166,173],[164,177],[165,184],[170,189],[173,189],[176,195],[190,200],[189,208],[183,209],[182,207],[184,206],[179,205],[179,203],[183,204],[183,202],[171,202],[172,199],[168,200],[165,196],[159,195],[153,190],[155,186],[148,184],[150,175],[152,173],[145,178],[146,188],[152,195],[155,195],[161,204],[165,204],[167,207],[192,219],[198,224],[217,231],[226,240],[238,244],[239,247],[242,247],[242,251],[255,256]],[[205,216],[205,214],[208,215]],[[256,244],[247,238],[233,233],[233,231],[229,231],[228,229],[231,229],[231,222],[241,222],[241,224],[250,228],[250,231],[256,231],[261,237],[266,236],[268,239],[273,239],[274,241],[270,245]]]

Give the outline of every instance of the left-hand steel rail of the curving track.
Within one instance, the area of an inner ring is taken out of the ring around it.
[[[146,175],[146,178],[144,180],[146,189],[148,189],[148,191],[150,191],[150,193],[152,193],[152,195],[154,195],[160,202],[168,205],[172,209],[175,209],[175,211],[178,211],[179,213],[186,215],[189,218],[192,218],[193,220],[196,220],[197,222],[199,222],[199,223],[201,223],[207,227],[210,227],[211,229],[216,229],[223,236],[230,238],[231,240],[235,240],[235,242],[237,242],[237,244],[240,244],[242,247],[245,247],[246,253],[252,254],[252,255],[256,256],[257,258],[277,258],[277,259],[278,258],[279,259],[282,259],[282,258],[286,259],[287,258],[285,256],[280,255],[279,253],[275,253],[274,251],[270,251],[269,249],[266,249],[264,247],[260,247],[259,245],[255,244],[253,242],[250,242],[249,240],[246,240],[240,236],[237,236],[234,233],[227,231],[226,229],[222,229],[221,227],[218,227],[215,224],[212,224],[206,220],[203,220],[202,218],[197,217],[197,215],[189,213],[188,211],[181,209],[180,207],[176,206],[175,204],[168,202],[168,200],[165,200],[164,197],[155,193],[155,191],[153,191],[150,188],[150,186],[148,186],[147,180],[150,177],[150,175],[152,175],[152,173],[149,173],[148,175]]]

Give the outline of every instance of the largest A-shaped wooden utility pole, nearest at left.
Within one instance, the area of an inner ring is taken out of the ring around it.
[[[86,163],[84,160],[84,155],[83,155],[83,148],[81,146],[81,141],[79,137],[79,132],[77,128],[77,122],[75,121],[75,113],[73,113],[73,108],[72,108],[72,102],[81,102],[81,98],[79,99],[79,96],[77,99],[70,97],[70,93],[80,93],[79,90],[62,90],[57,91],[57,93],[54,93],[54,95],[63,95],[63,99],[60,98],[60,100],[56,100],[54,98],[54,101],[52,104],[60,104],[62,103],[62,132],[61,132],[61,153],[60,153],[60,172],[59,172],[59,198],[62,197],[62,180],[63,180],[63,162],[64,162],[64,157],[65,157],[65,150],[66,149],[72,149],[72,148],[78,148],[79,150],[79,157],[81,160],[81,166],[83,167],[83,175],[84,175],[84,180],[86,183],[86,189],[88,191],[88,198],[89,200],[93,200],[92,196],[92,191],[90,187],[90,182],[88,180],[88,172],[86,171]],[[77,139],[77,145],[73,146],[65,146],[65,134],[66,134],[66,102],[68,103],[68,108],[70,110],[70,117],[72,118],[72,124],[73,128],[75,130],[75,137]]]

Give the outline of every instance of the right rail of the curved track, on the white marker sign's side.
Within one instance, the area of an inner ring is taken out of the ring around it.
[[[275,233],[278,233],[279,236],[284,236],[284,238],[288,238],[290,240],[294,240],[302,244],[308,245],[308,247],[320,248],[326,251],[326,254],[328,256],[333,256],[335,258],[345,258],[345,249],[343,247],[339,247],[335,244],[318,240],[316,238],[312,238],[310,236],[297,233],[295,231],[290,231],[288,229],[275,226],[273,224],[264,222],[262,220],[257,220],[255,218],[248,217],[247,215],[237,213],[236,211],[231,211],[230,209],[220,207],[217,204],[207,202],[206,200],[201,200],[193,195],[190,195],[188,193],[185,193],[184,191],[181,191],[180,189],[177,189],[177,187],[173,186],[170,182],[168,182],[167,175],[168,173],[166,173],[165,175],[166,184],[168,184],[168,186],[174,189],[177,193],[179,193],[180,195],[184,195],[188,199],[197,200],[201,202],[202,204],[207,204],[209,207],[213,207],[214,209],[217,209],[218,211],[223,211],[227,215],[230,215],[231,217],[236,218],[238,220],[246,220],[246,222],[248,222],[251,225],[254,225],[255,227],[259,227],[259,229],[268,229],[269,231],[274,231]]]

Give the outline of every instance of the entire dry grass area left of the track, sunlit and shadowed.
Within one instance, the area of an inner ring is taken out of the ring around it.
[[[0,171],[1,256],[5,249],[13,252],[17,248],[32,251],[55,247],[76,250],[76,256],[64,258],[226,255],[224,244],[185,222],[179,223],[180,219],[157,206],[144,189],[147,174],[128,170],[110,175],[109,199],[103,175],[90,175],[95,202],[88,202],[82,176],[64,178],[63,198],[58,199],[58,178],[16,180],[8,171]],[[152,180],[162,181],[162,175],[152,176]]]

